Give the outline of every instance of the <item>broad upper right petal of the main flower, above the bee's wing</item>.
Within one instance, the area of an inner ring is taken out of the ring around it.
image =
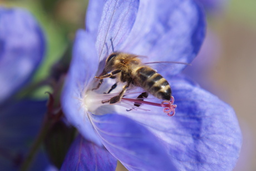
[[[204,39],[204,17],[194,1],[140,1],[134,27],[120,49],[147,56],[147,62],[190,63]],[[175,65],[165,71],[177,74],[184,67]]]

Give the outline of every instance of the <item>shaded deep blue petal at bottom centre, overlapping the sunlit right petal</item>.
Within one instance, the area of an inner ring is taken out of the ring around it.
[[[168,151],[144,126],[117,114],[93,115],[103,144],[129,170],[176,170]]]

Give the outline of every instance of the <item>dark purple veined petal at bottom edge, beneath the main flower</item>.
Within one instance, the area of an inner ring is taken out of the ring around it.
[[[105,148],[78,136],[73,142],[61,170],[115,170],[117,164]]]

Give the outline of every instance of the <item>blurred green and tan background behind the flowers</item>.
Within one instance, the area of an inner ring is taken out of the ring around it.
[[[47,54],[33,82],[50,74],[53,64],[71,47],[76,30],[85,28],[87,0],[0,0],[0,4],[28,9],[45,31]],[[244,137],[234,170],[256,170],[256,1],[230,0],[219,11],[208,13],[208,22],[220,47],[208,77],[219,90],[214,93],[235,109]],[[46,91],[50,87],[30,95],[46,98]]]

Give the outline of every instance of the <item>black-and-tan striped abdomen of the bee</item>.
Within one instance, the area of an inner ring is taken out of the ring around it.
[[[164,77],[150,67],[141,67],[136,71],[136,86],[163,100],[171,99],[171,88]]]

